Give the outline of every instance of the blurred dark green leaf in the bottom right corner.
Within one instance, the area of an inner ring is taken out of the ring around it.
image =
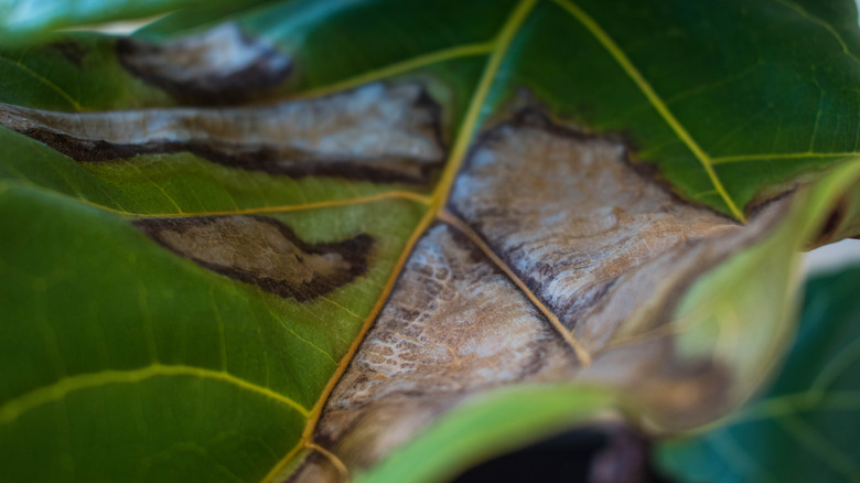
[[[664,443],[664,466],[679,481],[857,480],[858,280],[857,267],[809,280],[780,377],[723,425]]]

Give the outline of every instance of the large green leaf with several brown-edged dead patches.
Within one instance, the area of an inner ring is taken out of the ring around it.
[[[773,364],[786,260],[856,234],[837,8],[215,10],[3,54],[3,479],[396,474],[519,385],[689,428]]]

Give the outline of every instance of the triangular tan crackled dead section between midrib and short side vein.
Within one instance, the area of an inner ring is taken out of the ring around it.
[[[314,440],[363,466],[471,394],[567,378],[577,365],[523,293],[469,239],[437,225],[416,246]],[[330,471],[312,459],[295,481]]]

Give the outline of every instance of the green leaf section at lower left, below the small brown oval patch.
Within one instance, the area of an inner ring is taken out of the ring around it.
[[[381,240],[361,282],[299,304],[182,260],[101,210],[20,185],[2,201],[2,219],[29,227],[1,244],[0,343],[4,367],[15,364],[3,375],[2,473],[35,481],[159,481],[180,468],[262,477],[294,444],[420,215],[397,201],[324,222],[276,215],[310,239],[362,221]],[[36,234],[64,243],[33,250]]]

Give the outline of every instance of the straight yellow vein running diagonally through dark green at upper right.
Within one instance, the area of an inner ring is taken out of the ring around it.
[[[725,187],[722,185],[722,181],[720,181],[720,178],[717,175],[717,172],[713,170],[713,165],[711,162],[711,158],[706,153],[701,147],[696,142],[696,140],[690,136],[689,132],[687,132],[687,129],[678,121],[678,119],[675,117],[674,114],[669,110],[669,108],[666,106],[666,104],[663,101],[659,95],[654,90],[654,88],[651,86],[647,79],[642,75],[642,73],[636,68],[635,65],[627,58],[627,55],[624,53],[624,51],[619,47],[619,45],[615,43],[615,41],[612,40],[611,36],[603,30],[603,28],[598,24],[594,19],[591,18],[585,11],[583,11],[579,6],[573,3],[570,0],[552,0],[555,1],[559,7],[565,9],[568,13],[570,13],[574,19],[577,19],[589,32],[591,32],[592,35],[600,42],[601,45],[603,45],[604,49],[609,52],[609,54],[617,62],[617,64],[621,66],[621,68],[627,74],[627,76],[636,84],[636,86],[642,90],[642,93],[645,95],[645,97],[648,99],[648,101],[654,106],[654,109],[657,110],[657,112],[663,117],[663,119],[666,121],[666,124],[669,125],[673,131],[675,131],[676,136],[680,138],[680,140],[687,146],[687,148],[692,152],[692,154],[699,160],[702,168],[705,168],[705,172],[708,174],[708,178],[711,180],[711,183],[713,184],[714,189],[717,190],[717,193],[720,194],[720,197],[725,203],[725,205],[729,207],[729,211],[734,215],[735,218],[741,221],[742,223],[746,223],[746,217],[743,215],[743,212],[738,208],[738,205],[735,205],[734,201],[729,196],[729,193],[725,191]]]

